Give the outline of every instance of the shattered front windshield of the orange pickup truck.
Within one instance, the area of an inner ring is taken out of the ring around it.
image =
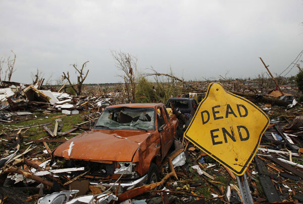
[[[97,120],[95,129],[155,130],[154,108],[107,108]]]

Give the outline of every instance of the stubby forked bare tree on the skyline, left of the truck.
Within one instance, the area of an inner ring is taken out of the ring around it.
[[[71,64],[74,67],[74,69],[76,70],[76,74],[78,73],[78,76],[77,76],[78,83],[75,84],[75,85],[73,85],[71,80],[70,80],[69,72],[67,72],[67,74],[65,74],[63,72],[64,76],[62,76],[62,77],[64,79],[67,79],[68,83],[70,84],[70,87],[76,92],[77,96],[81,94],[82,84],[83,84],[84,80],[86,79],[87,74],[89,72],[89,70],[87,70],[86,74],[83,72],[83,69],[85,68],[87,62],[89,62],[89,61],[85,61],[82,64],[82,67],[81,67],[80,70],[77,68],[77,64]],[[77,87],[77,89],[75,87]]]

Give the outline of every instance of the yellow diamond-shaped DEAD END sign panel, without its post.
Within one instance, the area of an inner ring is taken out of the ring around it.
[[[259,107],[212,83],[184,137],[241,176],[268,125],[269,118]]]

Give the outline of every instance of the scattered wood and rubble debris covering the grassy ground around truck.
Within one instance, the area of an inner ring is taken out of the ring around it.
[[[82,167],[52,167],[52,151],[90,129],[103,108],[120,97],[85,91],[86,96],[75,97],[61,90],[19,83],[0,89],[0,203],[242,202],[237,176],[185,139],[163,161],[159,182],[124,191],[91,182]],[[246,171],[252,198],[256,203],[303,202],[303,108],[257,101],[258,94],[245,96],[271,123]]]

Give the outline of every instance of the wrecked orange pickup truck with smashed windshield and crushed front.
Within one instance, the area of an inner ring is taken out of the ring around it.
[[[78,175],[91,184],[118,185],[124,190],[159,181],[158,167],[174,143],[176,115],[164,104],[108,106],[93,128],[52,153],[52,168],[84,167]],[[77,175],[74,175],[77,176]]]

